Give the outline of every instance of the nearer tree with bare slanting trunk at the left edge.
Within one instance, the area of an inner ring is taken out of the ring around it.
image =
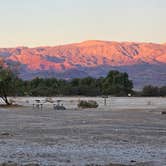
[[[16,75],[9,68],[0,66],[0,97],[7,105],[12,104],[8,95],[15,93],[16,80]]]

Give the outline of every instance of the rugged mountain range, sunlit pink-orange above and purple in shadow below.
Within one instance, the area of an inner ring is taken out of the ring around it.
[[[100,77],[120,70],[129,74],[135,88],[166,85],[166,44],[91,40],[55,47],[1,48],[0,57],[19,64],[24,79]]]

